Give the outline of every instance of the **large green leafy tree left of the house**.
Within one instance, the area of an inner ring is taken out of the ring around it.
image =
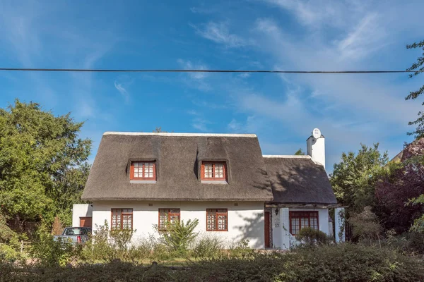
[[[0,109],[0,203],[8,217],[70,219],[90,168],[91,140],[78,137],[82,125],[18,99]]]

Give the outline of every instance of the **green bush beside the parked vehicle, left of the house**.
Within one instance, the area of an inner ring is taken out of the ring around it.
[[[54,240],[46,224],[37,231],[37,240],[31,246],[30,255],[45,266],[64,266],[78,257],[81,246],[73,246],[67,238]]]

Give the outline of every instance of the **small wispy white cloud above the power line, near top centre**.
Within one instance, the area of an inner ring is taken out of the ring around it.
[[[201,37],[209,39],[218,44],[223,44],[225,47],[236,48],[252,44],[252,42],[249,42],[238,35],[230,33],[227,23],[209,22],[204,25],[202,29],[196,25],[191,24],[191,26]]]

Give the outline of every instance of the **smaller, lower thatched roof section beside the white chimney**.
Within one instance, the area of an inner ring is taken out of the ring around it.
[[[329,178],[309,156],[264,156],[275,203],[336,204]]]

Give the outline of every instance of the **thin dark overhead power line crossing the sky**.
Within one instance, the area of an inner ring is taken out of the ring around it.
[[[179,69],[102,69],[102,68],[0,68],[0,71],[51,71],[78,73],[423,73],[424,71],[258,71],[258,70],[179,70]]]

